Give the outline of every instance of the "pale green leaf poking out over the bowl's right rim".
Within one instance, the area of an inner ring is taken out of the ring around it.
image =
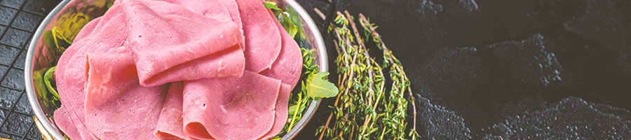
[[[307,96],[308,97],[334,97],[337,95],[339,90],[333,83],[326,80],[326,76],[328,76],[328,72],[323,73],[315,73],[310,76],[311,80],[309,80],[307,87]]]

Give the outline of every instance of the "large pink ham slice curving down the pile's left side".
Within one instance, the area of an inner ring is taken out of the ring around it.
[[[122,45],[127,34],[125,22],[116,22],[124,20],[122,16],[116,16],[116,13],[120,12],[121,9],[118,6],[112,6],[102,18],[105,22],[97,25],[93,35],[74,42],[60,57],[60,63],[57,64],[58,71],[55,70],[60,100],[76,125],[81,139],[97,139],[87,131],[84,124],[86,120],[83,106],[87,79],[85,76],[86,53],[128,52],[128,49]],[[106,18],[110,20],[104,20]]]

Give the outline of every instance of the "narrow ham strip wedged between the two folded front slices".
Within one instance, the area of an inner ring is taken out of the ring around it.
[[[182,82],[171,83],[167,94],[156,132],[154,136],[159,139],[186,139],[182,123],[182,92],[184,85]]]

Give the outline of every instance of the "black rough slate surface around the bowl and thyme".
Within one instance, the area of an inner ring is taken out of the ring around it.
[[[41,139],[23,91],[24,55],[58,2],[0,0],[0,137]],[[299,3],[322,22],[311,9],[324,3]],[[629,0],[337,5],[379,25],[405,65],[423,139],[631,139]],[[317,139],[332,100],[324,100],[297,139]]]

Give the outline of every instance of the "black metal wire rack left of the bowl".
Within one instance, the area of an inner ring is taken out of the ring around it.
[[[0,137],[42,139],[25,94],[24,65],[30,38],[59,1],[0,0]]]

